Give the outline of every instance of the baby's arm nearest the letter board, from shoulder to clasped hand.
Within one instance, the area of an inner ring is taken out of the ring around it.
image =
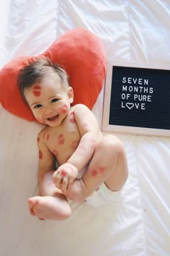
[[[66,192],[68,184],[73,184],[79,171],[90,161],[94,153],[95,145],[99,139],[99,126],[94,114],[84,105],[73,107],[73,115],[79,128],[81,140],[78,148],[53,174],[56,187]]]

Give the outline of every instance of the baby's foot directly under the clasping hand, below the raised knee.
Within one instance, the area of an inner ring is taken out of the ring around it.
[[[68,185],[66,195],[75,202],[83,202],[86,199],[86,187],[82,179],[75,179]]]

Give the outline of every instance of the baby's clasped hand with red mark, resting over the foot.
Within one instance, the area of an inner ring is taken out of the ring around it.
[[[58,167],[57,171],[53,173],[53,182],[58,189],[65,194],[68,189],[68,184],[73,184],[73,181],[78,176],[78,169],[71,163],[63,163]]]

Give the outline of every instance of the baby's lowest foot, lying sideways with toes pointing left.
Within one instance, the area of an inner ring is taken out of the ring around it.
[[[28,200],[30,214],[40,220],[64,220],[71,216],[71,208],[66,197],[31,197]]]

